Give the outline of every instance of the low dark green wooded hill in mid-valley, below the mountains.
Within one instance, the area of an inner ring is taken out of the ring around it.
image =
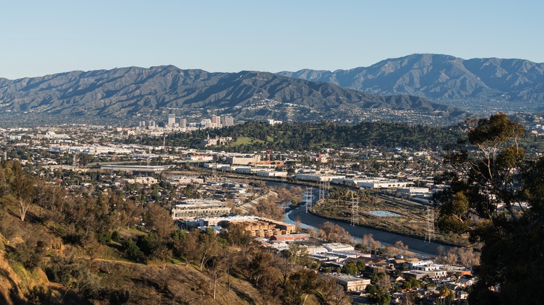
[[[359,123],[338,125],[336,123],[284,123],[269,125],[263,122],[248,122],[218,130],[197,130],[169,134],[168,146],[196,148],[206,136],[231,136],[231,146],[221,150],[248,152],[252,150],[321,150],[361,146],[410,146],[413,148],[435,148],[455,141],[460,135],[457,128],[438,128],[405,123]],[[131,142],[162,144],[162,139],[138,136]]]

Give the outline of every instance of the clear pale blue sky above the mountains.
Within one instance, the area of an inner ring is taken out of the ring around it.
[[[0,77],[176,65],[349,69],[413,53],[544,62],[544,1],[0,1]]]

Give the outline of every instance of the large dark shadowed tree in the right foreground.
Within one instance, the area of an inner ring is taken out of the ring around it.
[[[481,242],[478,281],[469,302],[537,304],[544,298],[544,159],[529,159],[524,127],[506,114],[475,123],[444,159],[438,226]]]

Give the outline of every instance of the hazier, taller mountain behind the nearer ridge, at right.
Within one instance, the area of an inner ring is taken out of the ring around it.
[[[543,109],[544,63],[523,59],[412,54],[350,70],[299,70],[278,75],[337,84],[371,94],[409,94],[433,101],[502,100],[534,102]],[[527,103],[523,104],[527,107]],[[466,108],[465,108],[466,109]]]

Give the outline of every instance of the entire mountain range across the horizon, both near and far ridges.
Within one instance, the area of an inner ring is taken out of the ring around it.
[[[164,65],[0,78],[0,115],[10,116],[139,120],[176,114],[196,120],[214,113],[243,120],[430,122],[482,109],[543,111],[543,102],[544,63],[440,54],[333,72],[226,73]]]

